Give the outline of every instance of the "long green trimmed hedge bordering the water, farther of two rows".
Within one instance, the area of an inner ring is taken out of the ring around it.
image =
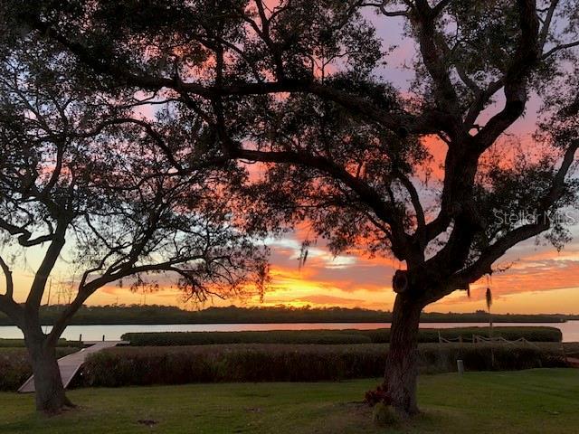
[[[438,342],[473,335],[489,336],[489,327],[423,328],[419,342]],[[531,342],[561,342],[561,331],[555,327],[494,327],[493,336],[514,341],[524,337]],[[178,346],[206,344],[384,344],[390,342],[390,329],[376,330],[272,330],[260,332],[164,332],[128,333],[122,339],[132,346]]]

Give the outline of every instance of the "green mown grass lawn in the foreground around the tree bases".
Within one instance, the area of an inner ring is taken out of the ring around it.
[[[422,376],[423,414],[379,429],[359,401],[376,380],[323,383],[194,384],[80,389],[61,416],[33,412],[33,396],[0,393],[8,433],[576,433],[579,371]],[[139,422],[141,420],[141,422]],[[143,423],[154,420],[147,426]]]

